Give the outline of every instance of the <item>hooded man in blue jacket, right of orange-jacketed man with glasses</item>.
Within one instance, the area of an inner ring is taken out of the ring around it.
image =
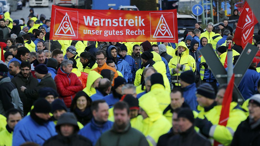
[[[107,49],[108,57],[107,60],[113,60],[115,62],[116,68],[120,71],[126,81],[132,82],[132,73],[131,68],[125,60],[123,60],[117,52],[117,48],[113,45],[110,45]]]

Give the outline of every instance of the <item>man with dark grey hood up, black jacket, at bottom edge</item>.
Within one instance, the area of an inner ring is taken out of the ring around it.
[[[43,145],[79,145],[91,146],[89,139],[78,135],[79,126],[77,125],[77,118],[74,113],[64,113],[55,126],[58,135],[48,139]]]

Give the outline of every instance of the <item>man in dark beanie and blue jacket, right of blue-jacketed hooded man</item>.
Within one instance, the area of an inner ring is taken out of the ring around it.
[[[134,81],[135,72],[137,71],[135,67],[135,60],[131,56],[127,55],[127,47],[125,44],[120,45],[120,49],[121,49],[120,54],[122,55],[123,59],[129,64],[131,68],[132,81]]]

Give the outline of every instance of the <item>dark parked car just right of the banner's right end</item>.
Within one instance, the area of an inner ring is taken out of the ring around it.
[[[177,14],[178,23],[178,38],[183,37],[185,30],[194,30],[197,19],[195,16],[191,15],[179,15]]]

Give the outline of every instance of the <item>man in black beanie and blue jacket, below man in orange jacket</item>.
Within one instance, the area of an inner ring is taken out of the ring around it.
[[[122,97],[122,87],[126,84],[126,80],[123,77],[115,78],[115,84],[112,88],[112,94],[109,94],[103,98],[109,106],[112,108],[116,102],[118,102]]]

